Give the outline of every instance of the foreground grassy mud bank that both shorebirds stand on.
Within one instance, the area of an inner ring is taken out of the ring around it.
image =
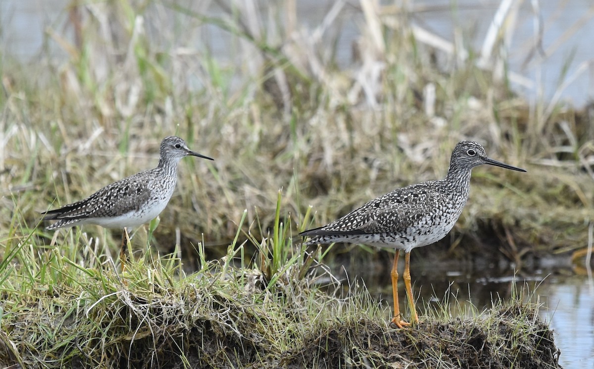
[[[290,238],[280,241],[292,247]],[[81,247],[92,253],[92,242]],[[233,261],[237,248],[229,246]],[[179,260],[149,253],[122,277],[106,258],[83,267],[82,254],[70,260],[57,248],[29,250],[17,258],[31,267],[0,270],[5,365],[523,368],[556,367],[558,359],[538,305],[521,296],[466,318],[451,317],[444,302],[399,330],[364,286],[332,297],[318,286],[326,273],[300,278],[294,261],[272,282],[257,263],[207,261],[184,275]]]

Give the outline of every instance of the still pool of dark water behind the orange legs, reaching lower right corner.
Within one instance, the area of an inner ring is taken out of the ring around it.
[[[371,294],[391,309],[391,254],[369,260],[365,251],[347,250],[350,255],[337,258],[332,272],[344,281],[362,280]],[[447,260],[416,251],[412,252],[410,273],[421,316],[427,305],[437,307],[445,300],[454,316],[463,316],[472,311],[470,304],[482,311],[498,297],[508,299],[514,289],[523,291],[525,299],[531,293],[530,300],[542,305],[539,315],[555,332],[560,364],[565,369],[594,368],[594,281],[575,275],[568,258],[540,260],[523,272],[514,272],[514,267],[504,260]],[[404,265],[400,259],[402,276]],[[399,291],[400,308],[407,308],[402,277]]]

